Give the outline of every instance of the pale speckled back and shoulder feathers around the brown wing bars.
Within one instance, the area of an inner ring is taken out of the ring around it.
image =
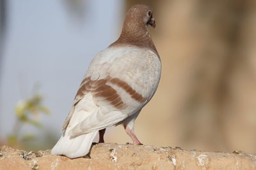
[[[156,92],[160,80],[161,61],[156,53],[148,50],[148,48],[138,48],[137,46],[109,47],[99,52],[92,60],[86,73],[86,77],[90,76],[92,80],[100,80],[107,76],[119,78],[128,83],[141,96],[147,97],[149,101]],[[134,113],[132,108],[140,108],[145,105],[145,103],[141,104],[134,101],[120,87],[116,85],[111,85],[111,87],[128,105],[127,110],[122,110],[123,113],[130,115],[130,113]],[[102,103],[101,101],[96,101],[96,103],[100,106],[109,105],[109,103]]]

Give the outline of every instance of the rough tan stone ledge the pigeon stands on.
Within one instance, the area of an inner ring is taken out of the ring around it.
[[[256,169],[256,155],[103,143],[93,145],[86,157],[68,159],[52,156],[50,150],[1,146],[0,169]]]

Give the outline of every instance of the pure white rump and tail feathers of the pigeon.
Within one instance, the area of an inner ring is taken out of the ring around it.
[[[77,103],[72,114],[72,118],[68,123],[67,129],[63,132],[58,143],[52,148],[52,155],[66,155],[70,158],[83,157],[86,155],[92,146],[93,139],[98,131],[79,136],[70,135],[70,131],[77,124],[81,124],[86,117],[92,115],[99,107],[93,103],[92,95],[88,94]]]

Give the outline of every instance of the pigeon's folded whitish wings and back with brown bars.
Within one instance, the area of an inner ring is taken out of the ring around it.
[[[148,50],[115,47],[100,52],[88,68],[63,129],[76,114],[77,105],[89,94],[98,109],[72,127],[72,136],[118,124],[149,101],[160,73],[159,58]]]

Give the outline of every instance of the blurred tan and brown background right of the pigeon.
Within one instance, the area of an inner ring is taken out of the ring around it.
[[[154,10],[150,32],[163,64],[158,90],[136,120],[140,141],[255,153],[256,1],[127,0],[122,13],[138,3]],[[122,126],[107,129],[107,143],[130,141]]]

